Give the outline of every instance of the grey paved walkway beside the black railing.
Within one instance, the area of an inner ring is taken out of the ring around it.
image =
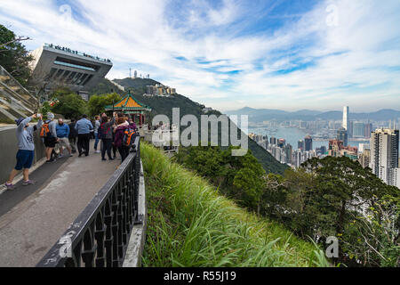
[[[29,177],[35,185],[0,195],[0,267],[35,266],[116,171],[120,159],[92,150],[44,164]]]

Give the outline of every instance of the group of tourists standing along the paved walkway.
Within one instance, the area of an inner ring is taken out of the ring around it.
[[[38,118],[36,126],[29,126],[29,122]],[[22,185],[34,184],[35,181],[29,180],[29,168],[32,166],[35,156],[34,132],[40,130],[40,136],[45,146],[46,163],[52,163],[63,156],[64,149],[68,151],[68,156],[73,157],[76,151],[79,157],[89,156],[90,140],[94,138],[94,153],[101,153],[101,160],[105,161],[106,152],[108,160],[116,159],[116,151],[119,152],[123,162],[129,155],[130,145],[126,145],[127,130],[129,134],[136,133],[136,125],[129,115],[123,113],[113,113],[112,118],[107,114],[96,116],[92,123],[86,115],[76,121],[71,119],[67,125],[62,118],[54,119],[54,114],[48,113],[47,120],[43,120],[41,114],[34,114],[29,118],[19,118],[15,120],[17,124],[17,164],[12,169],[8,181],[5,183],[7,189],[13,189],[12,183],[15,176],[23,170]],[[100,143],[100,150],[98,151]],[[58,146],[59,153],[54,149]]]

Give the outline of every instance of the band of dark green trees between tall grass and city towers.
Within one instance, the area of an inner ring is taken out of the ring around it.
[[[335,264],[400,266],[400,191],[356,161],[315,158],[284,175],[266,175],[251,153],[231,157],[218,147],[191,147],[174,159],[303,240],[327,248],[336,237]]]

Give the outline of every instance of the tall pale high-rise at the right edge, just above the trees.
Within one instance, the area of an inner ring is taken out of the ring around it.
[[[370,139],[372,172],[388,185],[400,187],[398,147],[398,130],[381,128],[372,132]]]

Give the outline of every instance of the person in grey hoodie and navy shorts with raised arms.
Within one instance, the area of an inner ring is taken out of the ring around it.
[[[29,122],[32,118],[37,118],[36,114],[28,118],[19,118],[15,120],[17,124],[17,139],[18,139],[18,152],[17,152],[17,164],[12,169],[8,181],[5,183],[7,190],[12,190],[14,184],[12,181],[20,170],[23,169],[23,183],[22,185],[34,184],[35,182],[29,180],[29,168],[32,166],[33,159],[35,157],[35,142],[34,132],[40,129],[43,125],[42,116],[39,117],[39,121],[36,126],[29,126]]]

